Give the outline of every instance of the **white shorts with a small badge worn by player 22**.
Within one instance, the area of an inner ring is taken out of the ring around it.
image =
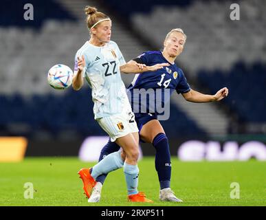
[[[109,117],[97,118],[96,120],[111,137],[111,142],[115,142],[118,137],[124,137],[129,133],[139,131],[135,122],[135,115],[131,109]]]

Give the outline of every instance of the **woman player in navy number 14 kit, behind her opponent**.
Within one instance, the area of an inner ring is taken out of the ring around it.
[[[177,199],[174,192],[170,189],[171,166],[168,138],[166,137],[159,120],[157,120],[157,104],[154,104],[155,111],[153,112],[149,112],[148,108],[140,113],[139,111],[135,111],[136,109],[139,110],[139,106],[141,105],[146,105],[147,107],[147,103],[146,97],[145,100],[139,100],[139,96],[134,96],[134,91],[136,91],[136,89],[160,89],[159,91],[163,94],[160,97],[164,97],[164,94],[166,94],[166,90],[168,89],[169,96],[162,100],[162,104],[170,99],[170,94],[173,93],[173,91],[177,91],[177,94],[182,94],[182,96],[189,102],[214,102],[222,100],[228,96],[228,88],[226,87],[217,91],[215,95],[201,94],[190,88],[184,73],[179,67],[177,67],[177,65],[175,65],[175,59],[181,54],[185,43],[186,35],[183,30],[180,28],[173,29],[166,35],[166,39],[164,40],[164,50],[162,52],[144,52],[133,61],[129,61],[131,64],[142,63],[144,65],[169,63],[169,66],[164,67],[164,69],[157,69],[154,72],[136,75],[128,88],[131,97],[131,107],[135,113],[135,120],[140,130],[140,138],[141,140],[144,140],[144,142],[152,143],[156,149],[155,168],[159,177],[159,199],[161,201],[181,202],[181,199]],[[156,101],[158,102],[158,100]],[[104,148],[102,148],[100,159],[109,153],[118,151],[119,148],[120,146],[109,141]],[[107,175],[100,175],[96,179],[98,187],[93,188],[93,193],[89,201],[100,201],[100,191],[106,176]]]

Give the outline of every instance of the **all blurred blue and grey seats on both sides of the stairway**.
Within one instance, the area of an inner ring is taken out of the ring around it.
[[[78,8],[84,5],[81,0],[67,2],[77,3]],[[255,8],[251,1],[243,0],[241,22],[231,21],[229,7],[235,2],[238,1],[126,0],[118,4],[109,0],[106,4],[128,19],[138,36],[157,49],[162,48],[169,30],[183,28],[188,41],[178,63],[185,67],[186,76],[195,85],[205,87],[210,93],[227,86],[230,96],[223,103],[230,109],[228,114],[237,115],[241,126],[243,122],[266,122],[263,96],[266,16],[265,1],[256,1],[254,4],[261,7]],[[34,21],[25,21],[21,17],[27,1],[16,2],[14,13],[7,14],[10,11],[5,8],[13,3],[1,1],[0,8],[0,50],[5,52],[0,66],[9,67],[8,72],[5,68],[0,69],[0,135],[104,135],[93,120],[88,87],[79,92],[72,89],[55,91],[46,80],[47,70],[56,63],[73,67],[74,54],[87,39],[82,8],[81,12],[76,12],[82,15],[75,17],[75,13],[63,7],[64,1],[34,0],[31,1]],[[131,4],[134,7],[129,7]],[[120,43],[126,61],[147,50],[115,19],[113,39]],[[129,85],[127,76],[125,82]],[[176,137],[177,133],[206,135],[195,120],[201,115],[192,118],[186,113],[186,106],[182,109],[178,104],[171,104],[170,108],[170,120],[162,122],[170,137]],[[210,114],[206,115],[209,117]],[[210,121],[214,121],[213,118]]]

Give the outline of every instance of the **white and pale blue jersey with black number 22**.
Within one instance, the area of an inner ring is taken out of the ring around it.
[[[78,57],[82,55],[86,62],[83,77],[91,87],[94,118],[121,113],[125,105],[130,106],[120,75],[120,66],[126,62],[118,45],[110,41],[97,47],[87,41],[76,53],[74,74],[78,71]]]

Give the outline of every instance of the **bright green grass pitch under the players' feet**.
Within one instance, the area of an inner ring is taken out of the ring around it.
[[[159,201],[159,182],[153,157],[139,162],[138,190],[155,203],[129,203],[122,169],[109,174],[100,203],[88,203],[78,170],[94,163],[74,157],[25,158],[0,163],[0,206],[265,206],[266,163],[180,162],[172,158],[171,188],[184,203]],[[34,186],[34,198],[25,199],[24,184]],[[239,183],[240,198],[231,199],[232,182]]]

